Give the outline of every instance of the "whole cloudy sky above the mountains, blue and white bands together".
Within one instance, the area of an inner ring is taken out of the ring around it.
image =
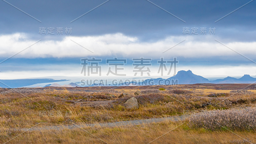
[[[255,76],[255,6],[254,0],[1,0],[0,79],[84,76],[81,59],[92,57],[102,59],[102,76],[114,57],[127,59],[120,70],[127,76],[134,75],[132,58],[140,57],[151,58],[156,77],[168,77],[157,73],[161,57],[176,57],[176,72]]]

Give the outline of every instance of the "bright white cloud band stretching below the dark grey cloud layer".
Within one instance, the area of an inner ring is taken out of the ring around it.
[[[169,36],[156,42],[142,42],[137,37],[125,36],[121,33],[102,36],[67,36],[61,41],[42,40],[19,53],[15,58],[90,56],[120,56],[125,58],[183,56],[187,58],[207,58],[211,56],[239,56],[227,47],[214,41],[216,36],[201,36],[200,38],[201,40],[196,36]],[[184,39],[186,41],[162,53]],[[222,42],[222,39],[216,39]],[[71,40],[94,53],[89,52]],[[22,33],[1,35],[0,57],[9,57],[34,44],[36,41],[29,39],[27,34]],[[252,56],[256,54],[256,42],[228,42],[224,44],[244,55]]]

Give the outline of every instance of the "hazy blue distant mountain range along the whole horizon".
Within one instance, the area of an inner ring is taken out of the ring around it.
[[[60,76],[59,76],[60,77]],[[0,80],[0,87],[2,88],[17,88],[17,87],[39,87],[38,85],[43,85],[43,87],[79,87],[81,78],[76,80],[54,80],[53,78],[31,78],[31,79],[15,79],[15,80]],[[69,81],[69,84],[65,84],[65,81]],[[56,83],[56,82],[59,82]],[[70,83],[74,82],[74,83]],[[87,86],[136,86],[136,85],[169,85],[169,84],[202,84],[202,83],[211,83],[211,84],[252,84],[256,82],[256,78],[251,77],[250,75],[244,75],[241,78],[226,77],[223,79],[216,79],[209,81],[203,76],[198,76],[192,73],[191,70],[185,71],[181,70],[175,76],[169,77],[167,79],[163,78],[149,78],[143,82],[125,82],[121,84],[108,84],[104,85],[102,83],[86,85]],[[63,84],[63,85],[60,85]],[[81,86],[82,87],[82,86]]]

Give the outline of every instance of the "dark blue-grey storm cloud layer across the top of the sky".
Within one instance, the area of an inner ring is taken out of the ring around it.
[[[29,33],[34,38],[44,38],[38,34],[39,27],[55,29],[57,27],[72,27],[72,35],[74,36],[119,32],[129,36],[137,36],[141,40],[157,40],[170,35],[180,36],[183,27],[215,27],[216,36],[219,37],[238,41],[255,40],[255,1],[216,23],[214,21],[249,1],[151,0],[186,23],[146,0],[110,0],[77,20],[75,20],[77,17],[105,1],[6,1],[42,21],[42,23],[4,1],[0,1],[0,34],[24,32]],[[72,20],[75,21],[70,23]],[[58,38],[61,36],[53,36],[53,39]]]

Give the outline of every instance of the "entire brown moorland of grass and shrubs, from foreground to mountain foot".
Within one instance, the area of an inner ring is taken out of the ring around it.
[[[153,143],[256,141],[255,90],[139,89],[140,94],[134,95],[137,90],[1,89],[0,142],[149,143],[158,137]],[[122,93],[125,94],[120,97]],[[139,108],[124,107],[131,97],[138,100]],[[111,103],[104,106],[86,103],[101,101]],[[170,116],[187,118],[110,127],[97,125]],[[76,127],[68,129],[66,125]],[[63,129],[44,129],[47,126],[63,126]],[[42,130],[33,130],[34,127]]]

